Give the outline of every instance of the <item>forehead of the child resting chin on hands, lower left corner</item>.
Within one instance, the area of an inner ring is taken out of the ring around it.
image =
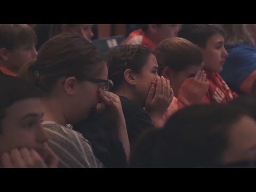
[[[21,118],[29,113],[43,113],[39,98],[30,98],[14,102],[10,107],[6,109],[6,117]]]

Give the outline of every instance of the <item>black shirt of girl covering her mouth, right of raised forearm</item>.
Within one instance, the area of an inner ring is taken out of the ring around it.
[[[119,98],[122,103],[126,129],[128,132],[130,146],[132,148],[143,133],[150,129],[154,129],[155,126],[151,122],[151,119],[146,111],[137,105],[137,103],[123,96],[119,96]]]

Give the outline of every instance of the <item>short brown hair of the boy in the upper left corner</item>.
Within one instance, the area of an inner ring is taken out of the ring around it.
[[[0,24],[0,49],[13,50],[21,45],[36,44],[34,30],[27,24]]]

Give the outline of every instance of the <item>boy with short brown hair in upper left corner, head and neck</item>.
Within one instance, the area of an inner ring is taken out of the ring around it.
[[[21,67],[36,60],[36,35],[27,24],[0,24],[0,72],[17,76]]]

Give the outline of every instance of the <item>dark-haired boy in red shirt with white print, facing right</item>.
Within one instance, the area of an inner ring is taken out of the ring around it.
[[[209,90],[203,102],[225,103],[238,97],[218,74],[228,56],[224,47],[223,29],[214,24],[186,24],[178,36],[196,44],[203,54],[203,69],[209,82]]]

